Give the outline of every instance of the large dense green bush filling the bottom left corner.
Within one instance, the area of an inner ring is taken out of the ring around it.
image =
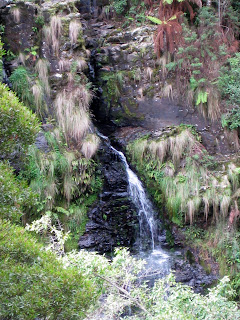
[[[96,291],[75,268],[0,221],[0,318],[83,319]]]

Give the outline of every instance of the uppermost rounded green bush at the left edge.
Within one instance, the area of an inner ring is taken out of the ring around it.
[[[25,88],[26,90],[26,88]],[[34,142],[39,122],[5,85],[0,84],[0,151],[9,157]]]

